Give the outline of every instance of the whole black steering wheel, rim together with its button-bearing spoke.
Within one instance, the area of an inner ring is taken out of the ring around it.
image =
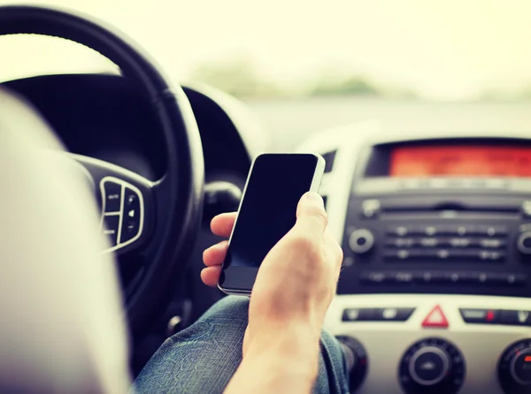
[[[0,35],[41,34],[78,42],[117,64],[135,83],[164,137],[165,174],[157,181],[112,163],[72,157],[89,170],[101,202],[102,231],[111,253],[142,254],[148,263],[127,295],[134,337],[150,327],[182,278],[201,223],[204,159],[196,119],[181,87],[171,86],[135,45],[108,27],[64,11],[0,7]],[[146,130],[145,133],[153,133]]]

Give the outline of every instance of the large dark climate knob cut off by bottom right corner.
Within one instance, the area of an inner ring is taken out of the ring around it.
[[[531,392],[531,339],[509,346],[498,362],[498,376],[504,392]]]

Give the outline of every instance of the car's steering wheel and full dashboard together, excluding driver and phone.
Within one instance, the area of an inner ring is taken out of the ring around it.
[[[0,36],[13,34],[61,37],[119,66],[0,87],[41,114],[95,185],[133,377],[225,296],[201,283],[202,253],[220,240],[212,217],[237,210],[253,159],[295,151],[326,160],[319,193],[344,254],[326,328],[355,355],[350,392],[531,393],[529,125],[419,133],[369,119],[283,143],[288,129],[267,133],[215,87],[173,83],[96,19],[2,6]]]

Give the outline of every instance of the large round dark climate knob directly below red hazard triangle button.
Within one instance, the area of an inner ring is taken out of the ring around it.
[[[456,393],[465,378],[465,360],[456,346],[440,338],[427,338],[404,353],[399,378],[409,394]]]

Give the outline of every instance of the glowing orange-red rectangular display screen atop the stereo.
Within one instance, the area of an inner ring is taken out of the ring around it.
[[[389,162],[390,177],[531,178],[531,147],[401,146]]]

